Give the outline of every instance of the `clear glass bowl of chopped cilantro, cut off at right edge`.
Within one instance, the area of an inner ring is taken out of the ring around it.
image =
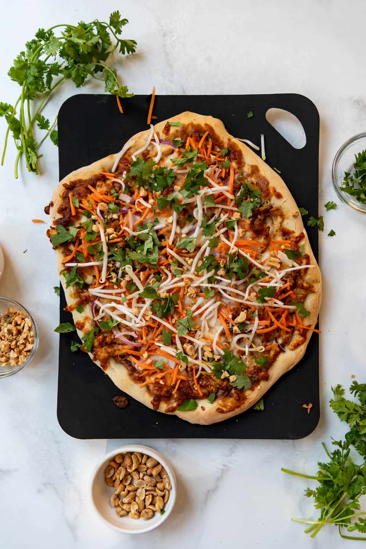
[[[335,155],[333,187],[353,210],[366,214],[366,132],[348,139]]]

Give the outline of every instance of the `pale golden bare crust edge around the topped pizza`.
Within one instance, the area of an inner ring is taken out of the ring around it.
[[[307,275],[304,277],[304,279],[307,282],[311,283],[314,288],[314,293],[308,294],[304,302],[306,309],[310,312],[310,315],[306,319],[307,322],[310,323],[308,324],[308,326],[311,326],[313,328],[317,323],[318,313],[320,309],[320,301],[322,296],[322,278],[320,275],[318,264],[316,262],[314,254],[310,247],[308,236],[303,226],[299,209],[297,208],[295,200],[292,197],[288,187],[286,187],[286,184],[284,183],[284,181],[281,179],[278,173],[272,170],[272,168],[269,167],[268,164],[266,164],[249,147],[247,147],[244,143],[241,143],[240,141],[235,139],[233,136],[231,136],[226,131],[221,120],[215,119],[212,116],[202,116],[200,114],[190,113],[189,111],[181,113],[177,116],[170,117],[168,120],[181,122],[183,126],[187,124],[189,126],[192,126],[193,128],[194,126],[197,126],[197,125],[200,125],[202,127],[213,128],[213,131],[216,132],[217,136],[219,136],[224,143],[228,144],[228,147],[230,147],[230,143],[232,143],[232,144],[235,144],[236,147],[241,150],[241,152],[243,153],[243,160],[245,161],[245,164],[258,166],[261,174],[267,178],[269,185],[275,187],[275,189],[282,195],[282,198],[275,198],[274,196],[272,196],[270,201],[274,206],[279,206],[279,208],[283,211],[285,219],[282,223],[282,226],[290,229],[291,231],[294,231],[295,234],[299,234],[301,231],[305,234],[305,242],[304,242],[305,253],[309,255],[311,265],[315,265],[314,268],[311,268],[308,270]],[[154,126],[155,131],[158,133],[158,135],[163,135],[162,129],[164,128],[166,123],[167,123],[167,120],[164,120],[162,122],[158,122]],[[179,128],[177,129],[179,130]],[[131,141],[132,139],[135,140],[135,143],[132,145],[131,149],[128,150],[129,154],[134,150],[138,150],[140,147],[142,147],[142,145],[147,141],[149,131],[150,130],[148,129],[148,130],[139,132],[135,136],[133,136],[131,139],[128,140],[128,141]],[[63,203],[63,199],[61,199],[61,193],[65,190],[63,187],[63,183],[68,183],[76,179],[87,179],[95,175],[96,173],[99,173],[100,171],[110,172],[114,164],[114,161],[116,159],[116,156],[117,154],[106,156],[102,160],[98,160],[97,162],[94,162],[89,166],[85,166],[71,172],[62,181],[60,181],[58,186],[55,188],[55,191],[52,197],[53,206],[50,208],[51,223],[53,223],[54,220],[60,217],[60,215],[57,214],[57,210],[59,206]],[[54,251],[56,255],[57,268],[60,276],[60,281],[64,288],[67,305],[72,305],[72,303],[75,302],[75,296],[73,296],[72,294],[72,288],[70,287],[66,288],[65,277],[61,276],[61,272],[64,270],[64,266],[62,264],[63,255],[61,251],[58,249]],[[74,318],[74,321],[83,320],[85,313],[91,316],[90,305],[88,305],[85,308],[85,312],[82,314],[78,313],[75,310],[72,311],[72,316]],[[80,338],[82,338],[83,335],[85,335],[85,332],[83,332],[82,330],[77,330],[77,333]],[[222,413],[217,411],[217,409],[220,408],[220,399],[216,399],[213,402],[213,404],[210,404],[207,401],[207,399],[200,399],[198,401],[199,405],[196,408],[196,410],[188,411],[188,412],[175,411],[173,413],[190,423],[199,423],[202,425],[209,425],[212,423],[223,421],[224,419],[227,419],[241,412],[244,412],[245,410],[253,406],[258,400],[260,400],[261,397],[268,391],[268,389],[281,376],[283,376],[283,374],[288,372],[292,367],[294,367],[301,360],[301,358],[303,357],[306,351],[307,344],[309,342],[309,339],[311,338],[311,335],[312,335],[312,331],[307,330],[307,337],[306,337],[305,343],[303,343],[302,345],[300,345],[294,350],[286,349],[286,352],[281,353],[277,357],[277,359],[275,360],[271,368],[269,369],[269,379],[267,381],[261,380],[261,383],[258,386],[258,388],[251,391],[246,391],[247,398],[245,402],[243,403],[243,405],[239,406],[238,408],[235,408],[235,410],[227,413]],[[93,355],[91,353],[89,353],[89,356],[93,360]],[[100,362],[98,360],[94,360],[94,362],[98,366],[100,366]],[[119,389],[121,389],[122,391],[125,391],[125,393],[131,395],[134,399],[138,400],[139,402],[142,402],[142,404],[144,404],[145,406],[148,406],[149,408],[153,408],[150,402],[151,396],[149,395],[148,390],[146,388],[140,389],[139,384],[134,383],[133,380],[129,377],[127,373],[127,369],[123,365],[121,365],[119,362],[114,360],[114,358],[110,358],[109,366],[106,369],[105,373],[112,379],[112,381],[115,383],[115,385]],[[164,412],[165,408],[168,406],[169,404],[166,404],[165,402],[161,402],[159,406],[159,411]]]

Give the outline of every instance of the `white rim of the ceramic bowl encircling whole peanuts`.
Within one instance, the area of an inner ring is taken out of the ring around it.
[[[140,530],[129,530],[128,528],[123,528],[122,526],[115,526],[114,524],[111,524],[108,520],[106,520],[103,515],[98,511],[97,507],[95,506],[94,500],[93,500],[93,484],[95,481],[95,476],[97,475],[99,469],[105,465],[105,462],[110,461],[112,457],[117,455],[117,453],[123,453],[123,452],[141,452],[141,453],[147,453],[148,456],[154,457],[156,460],[158,460],[162,466],[166,469],[169,478],[171,479],[172,483],[172,489],[170,490],[170,496],[169,499],[171,501],[170,509],[166,511],[164,514],[160,516],[159,522],[156,522],[155,524],[149,524],[149,521],[143,520],[142,522],[146,524],[145,527],[141,528]],[[109,526],[109,528],[112,528],[113,530],[120,532],[121,534],[145,534],[147,532],[150,532],[151,530],[154,530],[157,528],[157,526],[160,526],[170,515],[170,513],[173,510],[174,504],[176,502],[177,497],[177,480],[176,475],[174,474],[174,470],[171,466],[171,464],[168,462],[168,460],[157,450],[154,450],[153,448],[150,448],[150,446],[143,446],[140,444],[128,444],[126,446],[120,446],[118,448],[115,448],[109,453],[106,453],[105,456],[100,460],[97,465],[94,467],[93,472],[91,474],[91,478],[89,481],[89,498],[92,503],[92,507],[94,509],[94,513],[97,515],[99,520],[103,522],[106,526]]]

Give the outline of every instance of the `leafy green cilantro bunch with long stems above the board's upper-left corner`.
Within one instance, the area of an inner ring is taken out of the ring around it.
[[[92,76],[104,81],[104,89],[119,97],[132,97],[127,86],[121,86],[117,80],[117,71],[106,66],[109,55],[117,48],[122,54],[133,53],[134,40],[120,38],[122,27],[128,23],[121,19],[119,11],[110,14],[109,23],[94,19],[91,23],[80,21],[74,25],[54,25],[47,31],[38,29],[35,38],[26,42],[25,50],[14,59],[8,75],[21,87],[21,94],[14,106],[0,103],[0,117],[4,116],[8,128],[1,164],[4,163],[9,133],[12,133],[18,150],[15,160],[15,178],[18,178],[18,164],[24,154],[28,171],[38,173],[38,149],[48,136],[58,145],[58,133],[55,130],[57,118],[53,124],[41,111],[52,96],[53,91],[65,80],[72,80],[80,87]],[[111,35],[116,43],[112,46]],[[102,78],[99,77],[102,76]],[[37,109],[31,113],[31,102],[39,99]],[[36,141],[35,124],[46,132],[41,141]]]

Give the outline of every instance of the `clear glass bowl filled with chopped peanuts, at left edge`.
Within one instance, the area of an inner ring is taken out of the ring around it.
[[[37,347],[38,330],[31,313],[18,301],[0,296],[0,378],[27,366]]]

